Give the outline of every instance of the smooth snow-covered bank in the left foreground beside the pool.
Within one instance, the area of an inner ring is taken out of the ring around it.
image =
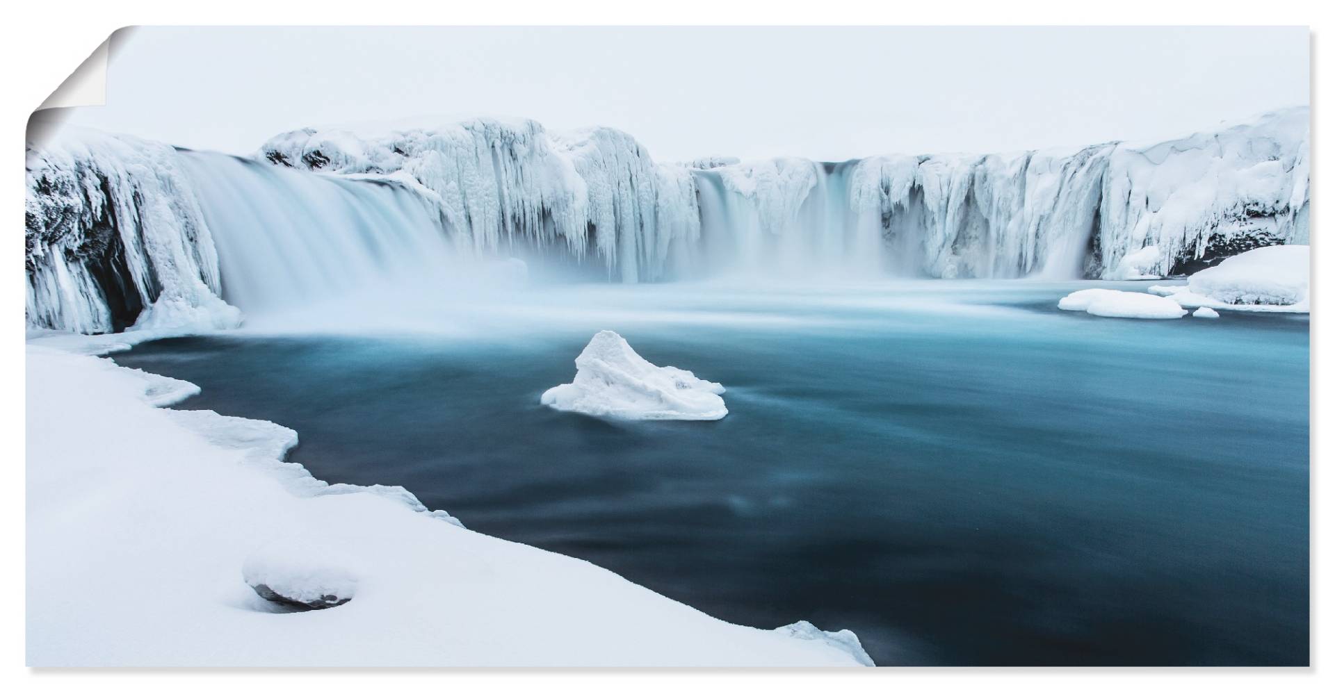
[[[27,379],[28,665],[869,663],[850,632],[728,624],[382,493],[294,493],[256,461],[275,428],[200,435],[107,360],[29,345]]]

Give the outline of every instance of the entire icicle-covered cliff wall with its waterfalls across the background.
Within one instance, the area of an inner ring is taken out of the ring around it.
[[[254,160],[67,131],[29,144],[27,315],[199,331],[507,257],[617,281],[1148,279],[1307,243],[1308,169],[1307,108],[1153,145],[844,163],[657,164],[623,132],[531,120],[307,128]]]

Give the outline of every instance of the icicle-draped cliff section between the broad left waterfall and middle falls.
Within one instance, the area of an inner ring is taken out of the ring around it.
[[[609,276],[661,279],[674,243],[700,235],[689,171],[658,165],[611,128],[549,132],[533,120],[474,119],[360,137],[306,128],[264,143],[278,165],[342,175],[406,173],[473,251],[522,240],[583,259]]]

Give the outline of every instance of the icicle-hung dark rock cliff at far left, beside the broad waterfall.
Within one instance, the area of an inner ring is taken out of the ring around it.
[[[97,333],[236,327],[176,151],[75,131],[27,151],[27,321]]]

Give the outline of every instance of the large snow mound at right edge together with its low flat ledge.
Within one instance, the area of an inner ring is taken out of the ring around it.
[[[1202,269],[1187,285],[1152,285],[1184,308],[1243,312],[1311,312],[1311,248],[1270,245]]]

